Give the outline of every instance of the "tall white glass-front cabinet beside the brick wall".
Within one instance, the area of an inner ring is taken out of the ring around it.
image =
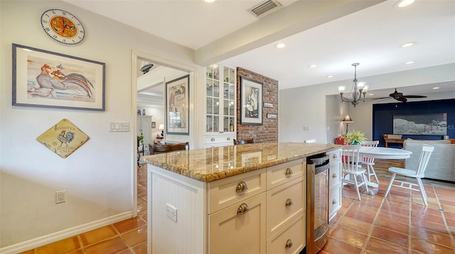
[[[237,73],[216,63],[205,71],[205,147],[232,145],[236,130]]]

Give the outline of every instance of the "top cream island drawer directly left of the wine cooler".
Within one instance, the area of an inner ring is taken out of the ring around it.
[[[293,160],[280,165],[267,167],[267,189],[272,189],[306,175],[306,159]]]

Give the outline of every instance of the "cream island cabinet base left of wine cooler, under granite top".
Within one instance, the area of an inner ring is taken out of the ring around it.
[[[199,182],[148,165],[149,250],[299,253],[306,245],[305,168],[300,159]]]

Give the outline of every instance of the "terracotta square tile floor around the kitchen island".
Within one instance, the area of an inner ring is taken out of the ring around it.
[[[378,169],[377,169],[378,171]],[[381,175],[381,174],[378,174]],[[387,174],[383,174],[387,175]],[[146,253],[146,166],[138,171],[137,218],[120,221],[24,253]],[[343,207],[331,221],[322,254],[451,253],[455,246],[455,185],[432,184],[425,189],[429,206],[418,192],[392,188],[384,198],[388,179],[380,177],[375,195],[343,188]]]

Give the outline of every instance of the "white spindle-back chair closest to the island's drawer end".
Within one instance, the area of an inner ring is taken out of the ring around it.
[[[360,162],[359,149],[360,145],[343,145],[343,148],[341,148],[341,158],[343,158],[343,160],[341,160],[341,165],[343,186],[345,184],[354,184],[358,200],[362,200],[360,198],[359,188],[365,186],[365,189],[368,192],[368,181],[364,174],[366,170],[363,167],[358,167]]]

